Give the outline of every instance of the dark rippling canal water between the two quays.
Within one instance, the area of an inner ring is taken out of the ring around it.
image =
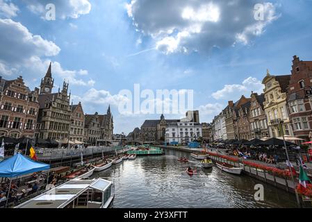
[[[177,157],[189,157],[182,163]],[[197,169],[189,176],[187,167]],[[113,207],[296,207],[295,196],[249,176],[233,176],[213,167],[202,169],[189,153],[166,151],[160,156],[124,160],[95,173],[115,182]],[[254,185],[264,186],[264,201],[254,200]]]

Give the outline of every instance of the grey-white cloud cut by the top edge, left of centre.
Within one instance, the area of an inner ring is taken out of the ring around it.
[[[77,19],[81,15],[87,15],[92,8],[89,0],[23,0],[27,4],[27,8],[31,12],[41,15],[42,19],[45,18],[47,10],[45,6],[48,3],[54,3],[56,6],[56,17],[60,19],[72,18]]]

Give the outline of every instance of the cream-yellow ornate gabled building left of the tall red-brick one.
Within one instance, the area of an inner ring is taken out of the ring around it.
[[[270,137],[281,137],[284,135],[293,136],[293,130],[287,111],[287,89],[289,86],[290,75],[274,76],[267,71],[267,75],[263,78],[262,84],[265,102],[264,110],[268,120],[268,130]]]

